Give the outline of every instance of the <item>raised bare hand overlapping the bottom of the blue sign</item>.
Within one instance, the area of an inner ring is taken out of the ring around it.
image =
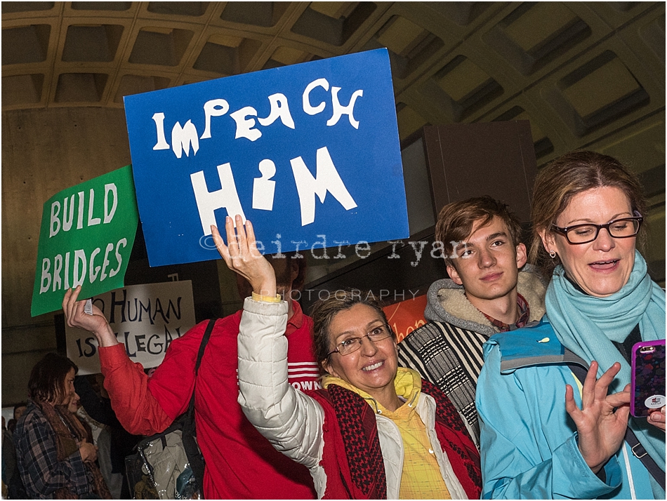
[[[218,228],[211,225],[213,241],[227,266],[249,281],[254,293],[275,297],[276,274],[268,260],[257,250],[252,223],[246,220],[244,225],[241,216],[237,215],[235,232],[232,218],[227,216],[225,230],[227,245],[220,237]]]

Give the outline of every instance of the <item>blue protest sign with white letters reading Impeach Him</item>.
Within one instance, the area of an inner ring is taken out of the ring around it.
[[[385,49],[125,98],[151,266],[218,258],[241,214],[263,253],[409,236]]]

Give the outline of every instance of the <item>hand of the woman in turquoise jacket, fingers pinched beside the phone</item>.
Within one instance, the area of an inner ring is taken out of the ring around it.
[[[597,362],[590,363],[581,392],[581,409],[576,406],[572,387],[565,387],[565,410],[576,424],[581,455],[595,474],[619,450],[626,435],[630,385],[626,385],[622,392],[607,395],[619,370],[621,364],[616,362],[596,381]]]

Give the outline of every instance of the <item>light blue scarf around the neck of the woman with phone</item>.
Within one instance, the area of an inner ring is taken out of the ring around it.
[[[588,363],[597,361],[598,377],[614,362],[621,363],[609,392],[620,392],[630,382],[630,366],[612,341],[623,342],[638,323],[642,340],[665,338],[665,292],[651,280],[646,262],[636,250],[630,279],[619,292],[607,298],[586,295],[565,277],[562,266],[557,266],[545,303],[548,319],[562,345]],[[628,425],[664,470],[665,432],[649,425],[645,418],[630,416]]]

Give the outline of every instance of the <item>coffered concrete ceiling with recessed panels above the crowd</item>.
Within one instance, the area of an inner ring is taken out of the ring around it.
[[[664,145],[663,2],[3,2],[2,109],[121,108],[378,47],[402,140],[529,119],[538,163],[630,129]]]

